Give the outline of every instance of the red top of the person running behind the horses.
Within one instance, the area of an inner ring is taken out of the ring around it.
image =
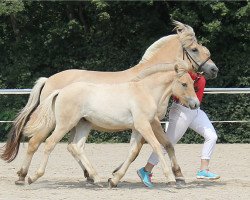
[[[197,74],[194,72],[188,72],[188,73],[191,76],[191,78],[194,80],[194,90],[195,90],[197,98],[199,99],[201,103],[203,95],[204,95],[204,89],[206,86],[206,79],[201,74]],[[174,98],[174,101],[178,102],[177,97],[174,96],[173,98]]]

